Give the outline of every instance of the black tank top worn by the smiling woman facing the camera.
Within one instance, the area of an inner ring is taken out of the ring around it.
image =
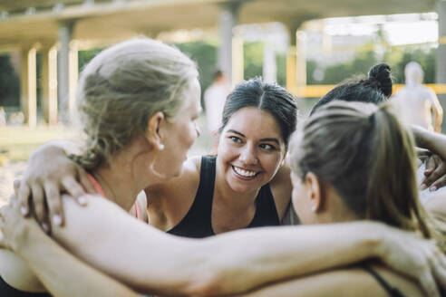
[[[212,198],[214,196],[215,156],[203,156],[199,172],[199,189],[188,214],[168,233],[185,237],[203,238],[215,235],[212,230]],[[260,188],[256,197],[256,215],[247,228],[280,225],[276,204],[269,184]]]

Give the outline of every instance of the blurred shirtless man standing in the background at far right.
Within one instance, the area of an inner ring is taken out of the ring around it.
[[[403,122],[440,132],[443,110],[435,92],[422,85],[423,74],[418,62],[409,62],[404,69],[406,84],[396,92],[393,103]]]

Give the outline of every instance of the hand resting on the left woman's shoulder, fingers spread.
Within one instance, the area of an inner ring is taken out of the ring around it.
[[[84,201],[79,197],[96,193],[85,170],[67,158],[67,154],[77,150],[68,140],[53,140],[37,148],[29,159],[24,178],[17,185],[22,214],[27,216],[32,205],[37,221],[44,229],[48,228],[50,219],[56,225],[63,225],[60,193],[69,193],[80,205]],[[48,210],[45,210],[45,204]]]

